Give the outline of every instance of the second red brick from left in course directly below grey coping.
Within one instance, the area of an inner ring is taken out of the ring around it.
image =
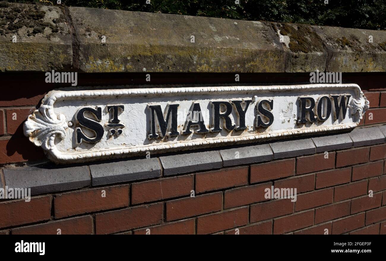
[[[105,197],[102,197],[103,194]],[[125,206],[129,206],[129,186],[74,191],[58,194],[54,198],[57,218]]]

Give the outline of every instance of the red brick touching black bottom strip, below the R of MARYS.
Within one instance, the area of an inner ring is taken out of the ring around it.
[[[248,207],[197,218],[197,234],[211,234],[248,223]]]

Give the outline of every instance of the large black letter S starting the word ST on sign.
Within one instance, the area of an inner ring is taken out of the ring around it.
[[[86,118],[85,112],[94,114],[97,118],[97,121],[90,118]],[[103,133],[105,132],[103,126],[99,123],[99,121],[102,120],[102,107],[96,107],[96,109],[93,109],[91,107],[83,107],[78,110],[75,118],[81,126],[95,132],[95,137],[89,138],[83,133],[81,128],[76,128],[76,143],[80,144],[82,141],[96,143],[102,139]]]

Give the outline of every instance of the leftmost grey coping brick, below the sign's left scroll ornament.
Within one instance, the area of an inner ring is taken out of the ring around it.
[[[87,166],[45,169],[39,167],[3,169],[8,188],[30,188],[31,195],[90,186]]]

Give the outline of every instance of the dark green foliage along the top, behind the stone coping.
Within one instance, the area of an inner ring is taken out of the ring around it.
[[[9,2],[29,2],[10,0]],[[56,0],[34,0],[42,4]],[[239,20],[386,29],[386,0],[62,0],[68,6],[157,12]]]

